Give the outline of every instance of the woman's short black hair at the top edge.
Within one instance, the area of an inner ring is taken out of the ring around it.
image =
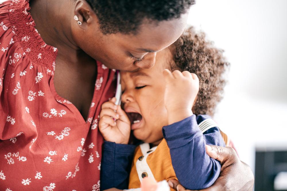
[[[104,34],[135,34],[143,19],[179,18],[195,0],[86,0],[94,9]]]

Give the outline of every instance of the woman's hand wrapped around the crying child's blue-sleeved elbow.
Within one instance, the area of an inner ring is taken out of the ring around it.
[[[221,162],[221,171],[214,184],[202,191],[253,190],[253,173],[247,164],[239,160],[233,148],[206,145],[206,153]],[[172,179],[168,183],[175,190],[188,191],[177,180]]]

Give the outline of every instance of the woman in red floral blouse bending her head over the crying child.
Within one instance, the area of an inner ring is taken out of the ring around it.
[[[1,3],[1,190],[99,190],[98,115],[115,90],[108,68],[152,67],[193,3]]]

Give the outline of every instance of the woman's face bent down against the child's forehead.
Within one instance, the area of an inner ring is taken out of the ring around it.
[[[139,68],[151,68],[155,64],[156,52],[166,48],[181,36],[186,19],[187,14],[179,19],[159,23],[146,21],[135,35],[122,33],[104,35],[94,19],[87,25],[84,33],[74,29],[73,36],[82,50],[108,68],[135,71]]]

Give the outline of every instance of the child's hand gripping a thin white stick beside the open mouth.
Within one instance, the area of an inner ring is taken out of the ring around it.
[[[106,141],[127,144],[131,132],[131,122],[121,106],[115,105],[115,101],[116,98],[113,97],[102,105],[99,129]]]

